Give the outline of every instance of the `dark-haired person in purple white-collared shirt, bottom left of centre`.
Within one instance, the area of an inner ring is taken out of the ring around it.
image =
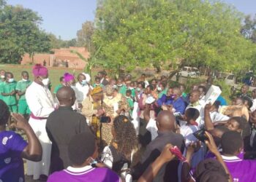
[[[116,173],[94,160],[98,157],[98,149],[91,132],[75,135],[69,142],[68,154],[72,166],[53,173],[49,176],[48,182],[121,182]]]

